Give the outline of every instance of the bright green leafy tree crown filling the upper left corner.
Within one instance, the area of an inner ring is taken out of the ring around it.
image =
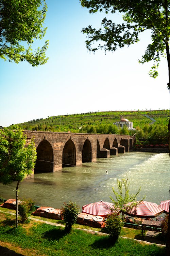
[[[45,0],[0,0],[0,58],[27,60],[33,67],[47,62],[48,41],[32,51],[34,40],[45,35],[46,10]]]

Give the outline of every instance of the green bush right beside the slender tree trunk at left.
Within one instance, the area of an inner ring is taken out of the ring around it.
[[[31,199],[22,200],[18,205],[18,213],[21,217],[21,223],[28,222],[28,217],[34,210],[34,202]]]

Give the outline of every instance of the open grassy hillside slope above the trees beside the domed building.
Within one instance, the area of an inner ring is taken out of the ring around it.
[[[145,124],[152,121],[146,117],[156,120],[156,123],[168,125],[169,110],[147,110],[147,111],[106,111],[106,112],[89,112],[73,115],[50,116],[48,118],[30,120],[22,124],[18,124],[24,130],[38,131],[58,131],[58,132],[80,132],[83,125],[105,125],[113,124],[120,120],[120,116],[133,122],[133,127],[142,128]]]

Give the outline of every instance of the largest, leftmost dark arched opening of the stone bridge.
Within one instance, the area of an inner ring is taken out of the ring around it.
[[[43,140],[37,146],[37,159],[34,173],[53,172],[54,166],[53,148],[47,140]]]

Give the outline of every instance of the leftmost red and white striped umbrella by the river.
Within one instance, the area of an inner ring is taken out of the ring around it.
[[[114,212],[118,213],[118,210],[115,209],[113,203],[103,201],[83,205],[82,209],[82,212],[84,213],[102,217],[106,217],[108,214],[112,214]]]

